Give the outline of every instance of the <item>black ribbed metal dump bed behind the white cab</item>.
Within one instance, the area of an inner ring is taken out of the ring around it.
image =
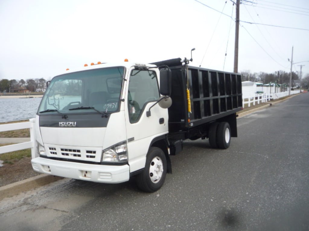
[[[154,63],[167,65],[172,72],[169,132],[185,132],[242,109],[241,75],[182,65],[180,60]],[[187,87],[191,112],[188,111]]]

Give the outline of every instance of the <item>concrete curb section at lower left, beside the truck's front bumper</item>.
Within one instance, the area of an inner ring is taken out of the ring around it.
[[[13,197],[19,193],[29,191],[34,188],[38,188],[45,184],[49,184],[61,179],[63,179],[63,177],[41,174],[38,176],[34,176],[25,180],[21,180],[12,184],[2,186],[0,187],[0,200],[6,197]]]

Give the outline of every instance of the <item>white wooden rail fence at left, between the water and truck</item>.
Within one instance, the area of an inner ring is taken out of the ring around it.
[[[30,119],[29,122],[0,125],[0,132],[30,128],[30,141],[29,142],[2,146],[0,147],[0,154],[31,148],[31,156],[32,158],[34,158],[35,157],[35,132],[34,132],[35,123],[36,123],[36,119]]]

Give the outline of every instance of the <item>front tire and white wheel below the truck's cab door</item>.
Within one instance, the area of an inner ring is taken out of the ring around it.
[[[164,152],[157,147],[151,147],[146,157],[143,172],[137,175],[138,187],[148,193],[159,190],[167,173],[167,161]]]

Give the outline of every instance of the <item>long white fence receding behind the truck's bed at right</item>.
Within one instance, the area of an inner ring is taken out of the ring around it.
[[[299,91],[291,91],[291,95],[298,94],[298,93]],[[289,91],[270,93],[270,94],[264,93],[264,94],[252,94],[252,95],[247,95],[247,96],[243,95],[243,107],[245,107],[245,104],[248,104],[248,107],[250,107],[251,103],[254,106],[256,103],[257,104],[265,103],[271,99],[280,99],[288,95],[289,95]]]

